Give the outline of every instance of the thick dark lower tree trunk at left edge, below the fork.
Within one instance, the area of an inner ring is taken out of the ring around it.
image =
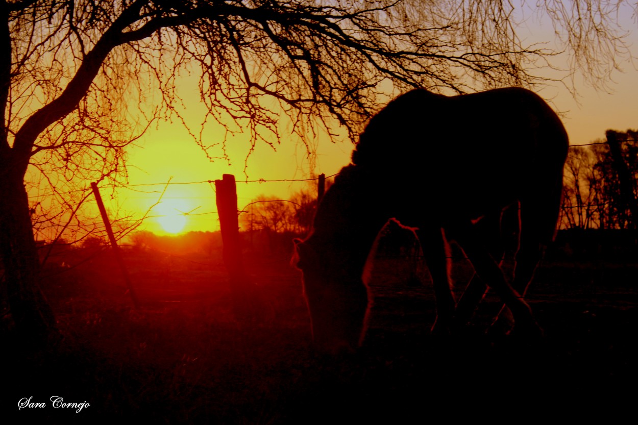
[[[33,237],[29,199],[23,176],[6,172],[0,181],[0,249],[11,317],[27,349],[43,349],[57,341],[53,312],[40,283],[40,258]]]

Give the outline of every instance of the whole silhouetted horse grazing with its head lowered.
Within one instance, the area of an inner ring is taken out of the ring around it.
[[[312,232],[295,241],[318,348],[353,350],[362,342],[371,305],[362,272],[392,218],[416,229],[436,296],[434,333],[453,331],[458,316],[449,283],[454,240],[477,276],[464,308],[473,311],[487,284],[511,312],[514,331],[542,334],[522,295],[556,233],[567,149],[558,116],[526,89],[450,97],[414,89],[390,101],[325,193]],[[484,238],[479,228],[495,223],[484,227],[500,234],[501,214],[512,207],[520,230],[508,281],[492,248],[498,237]]]

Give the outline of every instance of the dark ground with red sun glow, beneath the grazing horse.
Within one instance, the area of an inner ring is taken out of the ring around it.
[[[57,352],[26,354],[3,330],[3,423],[635,420],[638,262],[547,260],[528,294],[545,336],[530,343],[488,338],[489,309],[464,334],[432,336],[431,287],[405,285],[408,264],[383,258],[366,343],[334,358],[311,349],[287,256],[250,261],[253,318],[232,311],[219,263],[130,254],[135,310],[109,255],[96,258],[45,287],[64,334]],[[90,406],[53,408],[51,396]],[[29,397],[47,406],[19,410]]]

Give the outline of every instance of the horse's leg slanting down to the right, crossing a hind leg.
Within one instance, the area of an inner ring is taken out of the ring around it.
[[[457,225],[450,237],[456,239],[463,248],[479,278],[493,288],[505,305],[512,311],[517,327],[524,332],[541,334],[542,330],[531,314],[530,306],[523,297],[505,280],[503,271],[480,241],[471,223]]]

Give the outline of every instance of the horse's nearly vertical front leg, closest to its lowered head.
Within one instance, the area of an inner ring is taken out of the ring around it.
[[[454,297],[450,288],[449,244],[440,227],[422,227],[417,237],[434,285],[436,320],[434,334],[449,334],[454,317]]]

